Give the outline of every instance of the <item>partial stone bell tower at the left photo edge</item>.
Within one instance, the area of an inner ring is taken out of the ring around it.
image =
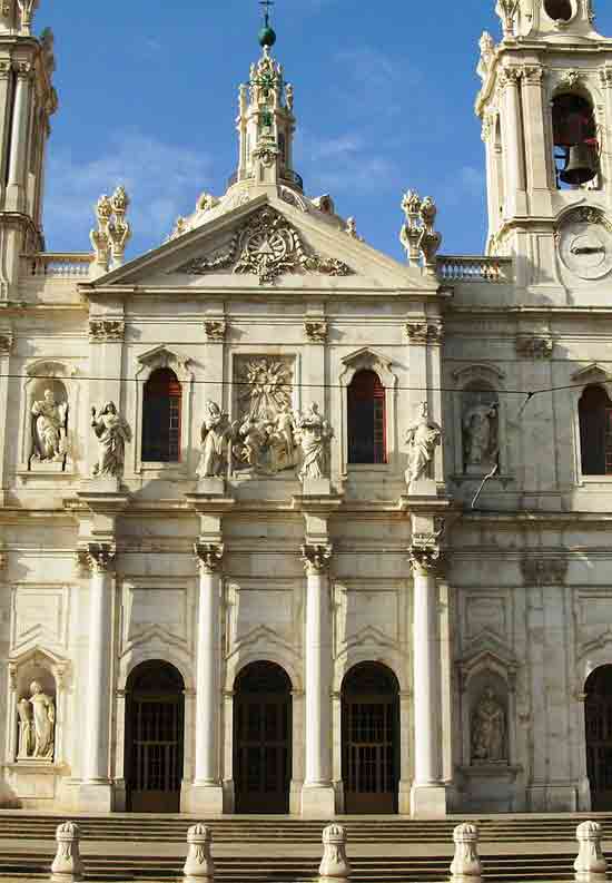
[[[21,255],[45,247],[45,154],[58,99],[53,35],[32,35],[38,2],[0,4],[0,301],[12,296]]]

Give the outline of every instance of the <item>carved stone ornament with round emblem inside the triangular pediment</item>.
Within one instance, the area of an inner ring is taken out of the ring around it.
[[[231,237],[228,248],[215,257],[198,257],[179,267],[179,273],[204,276],[231,268],[255,275],[260,285],[274,283],[285,273],[324,273],[348,276],[353,271],[337,258],[308,254],[297,229],[276,209],[256,212]]]

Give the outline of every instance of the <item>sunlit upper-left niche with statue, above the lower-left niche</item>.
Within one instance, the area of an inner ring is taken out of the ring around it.
[[[68,395],[59,380],[40,380],[29,408],[30,455],[28,468],[63,471],[68,455]]]

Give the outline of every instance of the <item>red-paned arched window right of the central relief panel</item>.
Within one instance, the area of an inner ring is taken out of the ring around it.
[[[358,371],[348,386],[348,462],[386,463],[385,387],[374,371]]]

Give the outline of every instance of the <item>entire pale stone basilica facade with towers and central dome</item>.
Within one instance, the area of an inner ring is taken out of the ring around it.
[[[592,1],[499,0],[485,253],[445,255],[408,190],[404,263],[307,195],[267,19],[226,192],[126,263],[109,181],[92,251],[47,252],[36,8],[0,9],[0,805],[609,807],[612,40]]]

